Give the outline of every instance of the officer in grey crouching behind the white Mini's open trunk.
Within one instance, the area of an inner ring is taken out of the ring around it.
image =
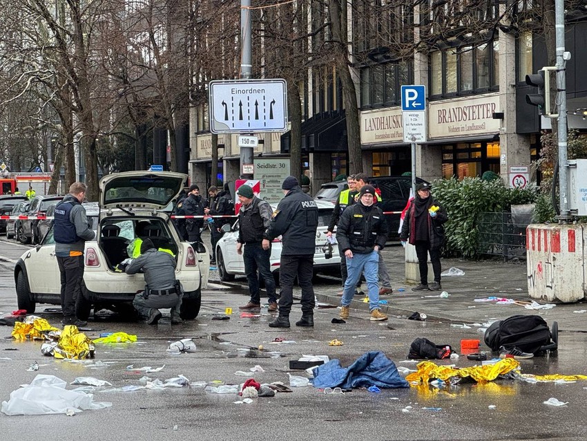
[[[171,308],[171,324],[182,323],[180,308],[182,306],[182,289],[175,280],[175,259],[171,254],[157,251],[151,239],[141,243],[141,255],[127,267],[126,274],[137,274],[143,270],[145,290],[135,295],[133,306],[140,315],[147,318],[147,323],[156,325],[162,317],[159,308]]]

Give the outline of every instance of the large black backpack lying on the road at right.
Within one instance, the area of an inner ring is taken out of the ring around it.
[[[485,331],[485,344],[492,350],[516,347],[525,353],[557,348],[558,325],[552,324],[552,334],[546,321],[539,315],[513,315],[496,321]],[[555,340],[551,341],[551,337]]]

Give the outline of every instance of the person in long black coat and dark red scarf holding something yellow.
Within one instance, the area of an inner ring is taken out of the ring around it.
[[[443,223],[448,220],[448,216],[445,209],[430,196],[430,187],[427,182],[416,186],[416,197],[405,213],[401,228],[402,244],[405,245],[410,238],[410,243],[416,247],[418,256],[420,285],[412,288],[412,291],[437,291],[442,288],[440,249],[444,241]],[[434,270],[434,283],[431,285],[428,285],[428,253]]]

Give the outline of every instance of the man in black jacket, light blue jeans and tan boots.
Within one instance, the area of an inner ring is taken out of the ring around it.
[[[372,185],[360,189],[358,202],[340,215],[336,240],[347,259],[347,281],[340,301],[340,318],[349,318],[349,305],[354,288],[363,272],[369,290],[369,311],[372,321],[387,320],[379,307],[379,252],[387,239],[387,222],[381,208],[374,205],[376,198]]]

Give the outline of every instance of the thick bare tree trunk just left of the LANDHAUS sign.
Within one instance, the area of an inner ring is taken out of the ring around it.
[[[363,171],[363,158],[360,149],[360,125],[356,88],[349,70],[349,53],[347,41],[346,3],[340,0],[329,1],[332,39],[334,41],[334,63],[343,84],[343,106],[347,120],[348,164],[350,173]]]

